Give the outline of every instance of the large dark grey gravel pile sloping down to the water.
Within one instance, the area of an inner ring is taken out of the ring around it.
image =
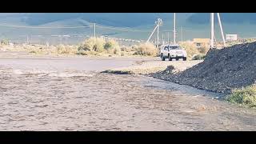
[[[173,67],[152,74],[154,78],[229,94],[256,80],[256,42],[210,50],[204,62],[178,74]]]

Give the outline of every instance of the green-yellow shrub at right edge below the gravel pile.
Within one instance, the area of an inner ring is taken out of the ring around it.
[[[246,86],[246,88],[232,90],[227,100],[229,102],[256,108],[256,84]]]

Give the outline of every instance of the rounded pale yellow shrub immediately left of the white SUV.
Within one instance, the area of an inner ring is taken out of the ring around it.
[[[139,46],[135,49],[136,55],[146,55],[146,56],[157,56],[158,55],[158,49],[154,46],[154,44],[150,42],[141,43]]]

